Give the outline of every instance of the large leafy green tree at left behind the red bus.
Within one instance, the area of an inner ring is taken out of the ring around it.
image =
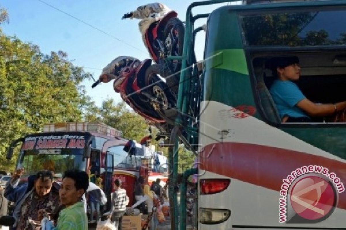
[[[82,119],[90,99],[80,83],[90,74],[73,66],[62,51],[45,55],[1,31],[0,47],[0,169],[12,170],[18,151],[6,160],[11,141],[47,123]]]

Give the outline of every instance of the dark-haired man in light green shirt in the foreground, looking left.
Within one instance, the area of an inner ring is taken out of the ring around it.
[[[64,173],[59,190],[61,204],[65,209],[59,213],[57,230],[87,230],[86,217],[82,196],[89,186],[89,176],[79,170],[67,170]]]

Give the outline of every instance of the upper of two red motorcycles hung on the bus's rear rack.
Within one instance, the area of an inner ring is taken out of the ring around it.
[[[177,93],[181,60],[166,58],[183,54],[185,28],[183,22],[177,18],[177,12],[162,3],[151,3],[140,6],[122,17],[122,19],[127,18],[142,19],[139,22],[139,30],[144,45],[157,64],[149,67],[149,72],[160,71],[160,75],[166,79],[167,86]]]

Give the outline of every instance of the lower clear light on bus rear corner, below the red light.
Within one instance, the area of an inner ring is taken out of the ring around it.
[[[227,209],[200,208],[200,221],[203,224],[218,224],[226,221],[231,215]]]

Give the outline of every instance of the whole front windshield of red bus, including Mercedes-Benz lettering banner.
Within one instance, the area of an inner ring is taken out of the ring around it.
[[[16,168],[24,168],[25,176],[50,170],[56,178],[67,169],[85,171],[83,150],[89,139],[90,134],[84,132],[30,134],[22,144]]]

